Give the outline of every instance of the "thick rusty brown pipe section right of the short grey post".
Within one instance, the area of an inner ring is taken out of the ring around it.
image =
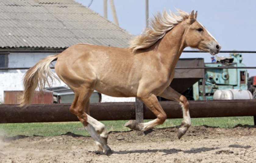
[[[177,102],[162,101],[160,104],[167,118],[182,118],[182,110]],[[189,104],[192,118],[256,116],[256,100],[189,101]],[[155,115],[144,106],[144,119],[153,118]]]

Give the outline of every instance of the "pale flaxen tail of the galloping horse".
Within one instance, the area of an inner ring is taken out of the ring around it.
[[[58,54],[47,56],[27,70],[23,77],[24,91],[21,97],[20,106],[28,105],[32,102],[34,91],[37,87],[39,87],[39,90],[43,92],[45,83],[48,83],[48,77],[51,80],[53,80],[53,77],[59,80],[50,68],[51,62],[57,60],[57,58]]]

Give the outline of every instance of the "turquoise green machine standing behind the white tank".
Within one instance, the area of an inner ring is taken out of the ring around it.
[[[219,58],[215,63],[204,63],[205,67],[213,67],[204,70],[204,78],[196,82],[190,90],[193,90],[194,100],[213,100],[216,90],[240,89],[247,90],[247,69],[218,69],[214,67],[244,67],[241,53],[230,53],[228,58]],[[205,97],[203,96],[205,92]]]

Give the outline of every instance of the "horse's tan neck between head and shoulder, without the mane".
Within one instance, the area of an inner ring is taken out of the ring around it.
[[[162,58],[161,60],[166,65],[166,68],[173,70],[178,62],[180,55],[185,48],[183,42],[183,35],[185,33],[185,26],[179,24],[172,30],[167,32],[165,36],[159,40],[156,52]]]

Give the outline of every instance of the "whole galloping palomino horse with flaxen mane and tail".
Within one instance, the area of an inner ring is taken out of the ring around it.
[[[156,115],[147,123],[126,123],[131,129],[146,131],[164,123],[166,114],[157,96],[180,103],[183,121],[178,129],[181,138],[191,125],[189,103],[183,95],[169,87],[174,67],[187,46],[215,55],[221,46],[203,25],[196,21],[197,12],[178,10],[179,15],[164,11],[151,21],[151,27],[130,42],[129,48],[91,44],[76,44],[62,53],[40,60],[24,76],[21,106],[33,98],[38,86],[44,89],[52,78],[50,63],[57,61],[55,72],[75,93],[70,112],[83,123],[98,147],[106,155],[112,153],[107,145],[105,125],[90,116],[89,97],[93,90],[114,97],[138,97]]]

